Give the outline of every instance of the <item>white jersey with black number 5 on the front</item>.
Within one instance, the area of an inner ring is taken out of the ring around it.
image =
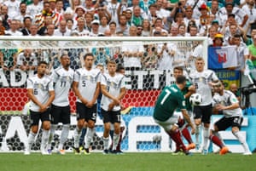
[[[75,71],[73,81],[79,83],[79,92],[82,97],[90,101],[95,94],[97,83],[101,82],[101,71],[97,68],[90,71],[85,68],[79,68]],[[82,103],[79,98],[77,98],[77,101]]]

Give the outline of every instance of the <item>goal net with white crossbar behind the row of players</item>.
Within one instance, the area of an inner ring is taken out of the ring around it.
[[[172,70],[182,66],[186,74],[195,69],[195,58],[207,59],[207,37],[1,37],[0,41],[0,149],[21,151],[29,132],[29,116],[22,113],[28,98],[26,79],[37,71],[38,61],[49,64],[48,73],[60,66],[61,54],[68,54],[71,68],[83,66],[83,55],[92,53],[95,66],[115,60],[125,67],[126,94],[122,100],[121,148],[124,151],[170,151],[169,138],[152,118],[160,90],[174,83]],[[206,60],[207,62],[207,60]],[[206,64],[207,66],[207,64]],[[73,146],[76,125],[76,97],[69,94],[72,127],[65,148]],[[102,119],[96,120],[91,148],[102,150]],[[61,125],[55,134],[58,144]],[[39,149],[41,132],[32,150]]]

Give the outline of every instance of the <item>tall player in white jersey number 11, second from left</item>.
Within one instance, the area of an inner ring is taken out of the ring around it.
[[[55,88],[55,100],[50,110],[51,128],[49,134],[48,151],[51,151],[51,140],[55,135],[58,123],[62,123],[61,139],[58,145],[58,153],[65,154],[63,145],[67,140],[70,127],[70,105],[68,100],[69,90],[72,87],[74,71],[70,67],[70,59],[67,54],[61,55],[61,66],[56,68],[51,75]]]

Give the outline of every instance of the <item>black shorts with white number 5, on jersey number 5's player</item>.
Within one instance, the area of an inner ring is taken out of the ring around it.
[[[77,119],[84,119],[86,122],[92,120],[96,123],[97,105],[91,108],[86,107],[83,103],[77,102]]]

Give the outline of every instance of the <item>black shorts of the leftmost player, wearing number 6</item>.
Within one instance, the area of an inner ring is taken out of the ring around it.
[[[42,123],[44,121],[49,121],[49,111],[49,108],[44,112],[30,110],[30,119],[32,121],[31,126],[39,125],[40,120]]]

